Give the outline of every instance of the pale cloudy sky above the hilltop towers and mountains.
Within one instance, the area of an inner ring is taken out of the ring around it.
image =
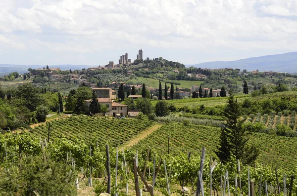
[[[297,51],[297,0],[0,0],[0,64],[184,64]]]

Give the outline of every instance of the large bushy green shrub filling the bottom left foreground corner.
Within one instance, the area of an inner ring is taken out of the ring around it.
[[[48,159],[45,163],[40,156],[28,156],[24,157],[21,168],[21,171],[11,167],[9,171],[0,172],[0,193],[7,196],[76,195],[74,172],[69,173],[71,167],[64,162]]]

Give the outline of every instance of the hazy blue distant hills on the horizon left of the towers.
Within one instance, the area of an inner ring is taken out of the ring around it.
[[[0,76],[8,75],[11,72],[18,72],[19,74],[28,73],[28,69],[43,69],[44,65],[9,65],[9,64],[0,64]],[[51,68],[60,68],[61,70],[81,70],[88,67],[97,67],[91,65],[49,65]]]

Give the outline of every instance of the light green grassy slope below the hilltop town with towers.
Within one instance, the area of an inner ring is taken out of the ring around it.
[[[146,86],[148,86],[148,87],[159,88],[159,80],[157,80],[157,79],[137,77],[136,79],[133,78],[133,79],[130,79],[128,81],[132,81],[135,84],[139,83],[141,85],[143,83],[145,83]],[[202,81],[186,81],[186,80],[167,80],[167,81],[168,82],[179,82],[181,84],[180,85],[175,85],[174,84],[174,87],[177,86],[177,87],[182,87],[182,88],[192,88],[193,85],[200,85],[202,83]],[[161,84],[162,84],[162,87],[164,88],[165,87],[165,82],[161,81]]]

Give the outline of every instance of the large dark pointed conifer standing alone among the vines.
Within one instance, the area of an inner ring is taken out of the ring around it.
[[[228,104],[224,109],[226,123],[221,128],[220,148],[217,156],[224,163],[236,159],[244,161],[244,164],[253,163],[259,155],[254,146],[248,145],[248,131],[243,127],[244,119],[240,119],[241,108],[237,99],[230,93]]]

